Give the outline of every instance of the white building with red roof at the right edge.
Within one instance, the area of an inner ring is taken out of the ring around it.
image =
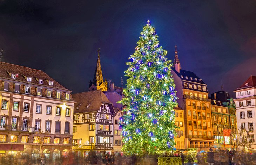
[[[256,76],[250,76],[236,92],[236,119],[238,130],[238,145],[256,149]]]

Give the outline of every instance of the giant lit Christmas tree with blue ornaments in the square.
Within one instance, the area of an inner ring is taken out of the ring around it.
[[[167,51],[157,40],[155,28],[148,21],[143,27],[135,53],[125,71],[127,107],[119,119],[123,148],[127,155],[155,154],[172,150],[175,145],[176,92]]]

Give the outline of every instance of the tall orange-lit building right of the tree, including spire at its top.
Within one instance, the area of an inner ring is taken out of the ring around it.
[[[185,137],[188,148],[208,150],[213,146],[211,123],[211,101],[208,99],[207,84],[195,73],[182,70],[175,47],[175,59],[171,70],[175,83],[178,105],[184,109]]]

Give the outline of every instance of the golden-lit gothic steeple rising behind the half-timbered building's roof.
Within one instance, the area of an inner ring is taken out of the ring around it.
[[[100,65],[100,48],[98,50],[98,60],[96,64],[96,69],[94,72],[93,82],[90,81],[89,83],[89,91],[101,89],[102,91],[107,91],[107,81],[103,81],[101,65]]]

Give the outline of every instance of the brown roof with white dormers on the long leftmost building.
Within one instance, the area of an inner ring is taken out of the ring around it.
[[[16,75],[16,79],[11,78],[12,74]],[[31,77],[32,78],[31,82],[28,82],[25,77]],[[5,62],[0,62],[0,78],[20,81],[27,84],[36,84],[39,86],[43,85],[43,86],[49,86],[51,88],[56,87],[56,88],[62,88],[62,89],[68,90],[62,85],[60,85],[53,78],[51,78],[48,74],[46,74],[41,70],[9,64]],[[42,79],[43,84],[39,84],[37,79]],[[47,81],[53,81],[53,85],[49,85]]]

